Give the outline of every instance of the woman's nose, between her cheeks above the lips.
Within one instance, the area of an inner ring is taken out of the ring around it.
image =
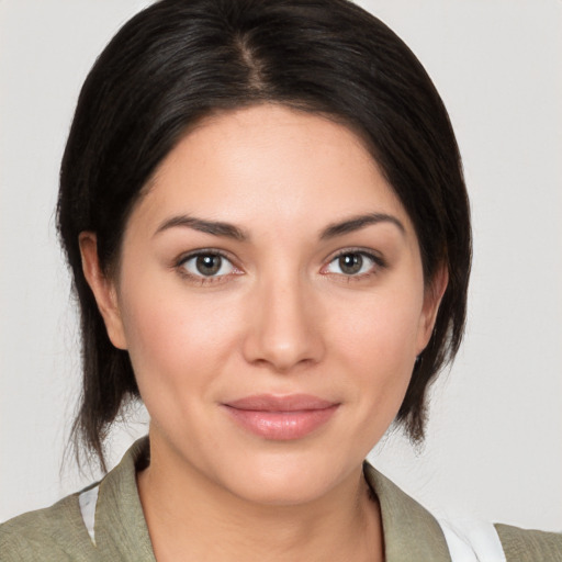
[[[248,362],[288,373],[322,360],[325,346],[316,300],[297,280],[263,283],[251,296],[244,341]]]

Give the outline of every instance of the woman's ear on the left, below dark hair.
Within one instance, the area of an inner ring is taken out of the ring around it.
[[[100,268],[98,238],[94,233],[82,232],[78,237],[78,243],[82,258],[82,271],[98,303],[98,308],[105,323],[108,336],[116,348],[126,349],[127,344],[121,319],[115,283]]]

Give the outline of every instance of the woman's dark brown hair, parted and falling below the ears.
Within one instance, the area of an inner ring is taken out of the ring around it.
[[[98,453],[138,397],[126,351],[110,342],[82,273],[78,235],[119,257],[128,214],[158,164],[213,111],[274,102],[358,131],[408,213],[426,283],[449,285],[397,422],[424,436],[426,392],[462,338],[471,261],[469,203],[447,111],[409,48],[346,0],[160,0],[98,58],[80,93],[60,170],[58,228],[81,312],[83,393],[75,437]]]

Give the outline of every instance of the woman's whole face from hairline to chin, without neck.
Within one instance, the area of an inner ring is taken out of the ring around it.
[[[357,479],[439,291],[358,136],[265,104],[207,119],[168,155],[108,293],[154,465],[292,504]]]

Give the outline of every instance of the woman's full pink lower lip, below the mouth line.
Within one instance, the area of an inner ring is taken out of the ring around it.
[[[338,404],[322,409],[303,409],[295,412],[266,412],[238,409],[224,406],[228,414],[250,432],[277,441],[302,439],[312,434],[335,414]]]

